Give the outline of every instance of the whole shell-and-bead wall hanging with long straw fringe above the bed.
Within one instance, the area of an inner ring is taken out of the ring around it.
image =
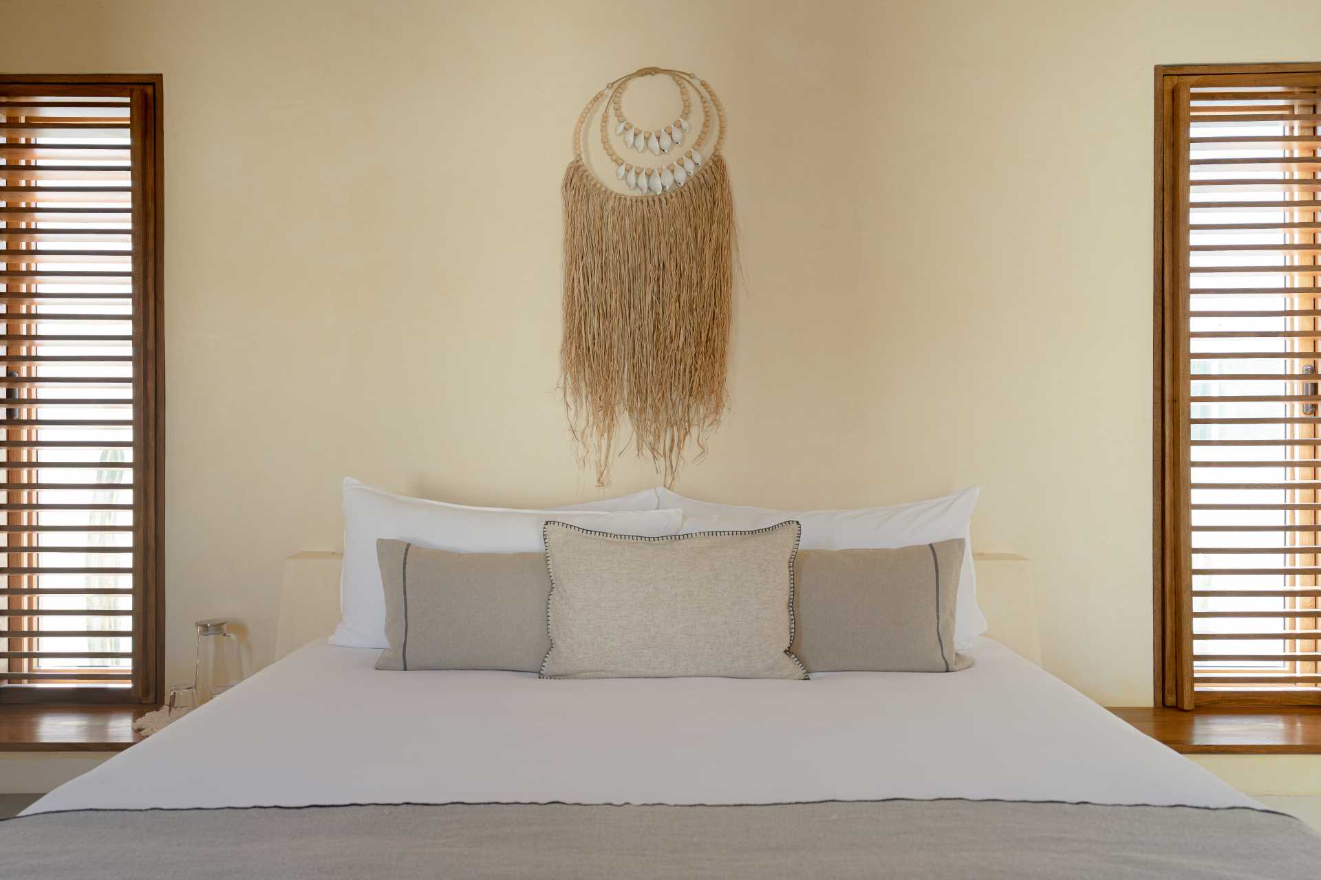
[[[638,77],[668,77],[679,115],[642,128],[625,116]],[[701,103],[690,119],[691,95]],[[600,113],[618,191],[584,156]],[[725,115],[694,74],[643,67],[596,92],[573,128],[564,173],[564,339],[560,381],[569,427],[597,486],[609,482],[627,418],[638,455],[672,486],[690,443],[699,456],[727,406],[734,210],[720,148]],[[624,158],[616,149],[629,153]]]

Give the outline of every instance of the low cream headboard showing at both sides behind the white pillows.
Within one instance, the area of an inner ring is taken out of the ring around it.
[[[339,623],[338,553],[308,550],[284,561],[275,658],[325,639]],[[1041,664],[1037,594],[1032,562],[1012,553],[978,553],[978,604],[991,628],[987,635],[1034,664]]]

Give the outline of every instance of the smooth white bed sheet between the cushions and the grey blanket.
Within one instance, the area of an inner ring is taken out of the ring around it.
[[[1003,645],[952,674],[539,681],[313,643],[26,813],[1005,798],[1259,806]]]

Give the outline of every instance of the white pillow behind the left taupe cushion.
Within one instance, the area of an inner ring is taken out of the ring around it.
[[[542,550],[542,524],[548,519],[600,532],[654,537],[678,532],[683,513],[676,509],[563,512],[464,507],[383,492],[346,476],[341,620],[330,644],[345,648],[388,645],[376,538],[457,553],[532,553]]]

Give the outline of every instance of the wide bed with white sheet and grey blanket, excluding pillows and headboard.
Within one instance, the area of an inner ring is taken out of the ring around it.
[[[985,579],[983,579],[985,581]],[[962,673],[383,673],[324,639],[0,823],[0,876],[1293,877],[1321,839],[992,639]]]

